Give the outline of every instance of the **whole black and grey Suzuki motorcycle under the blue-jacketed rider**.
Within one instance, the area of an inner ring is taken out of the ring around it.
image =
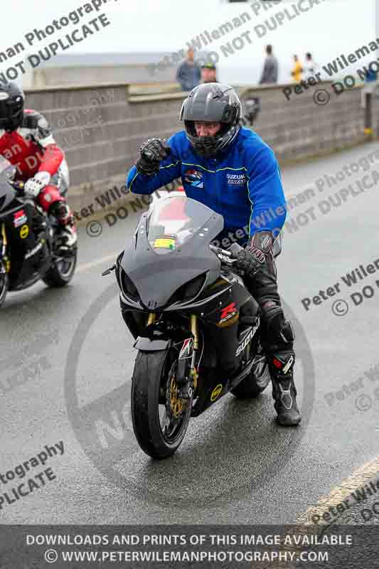
[[[161,198],[103,273],[115,271],[122,317],[136,339],[132,422],[154,458],[173,454],[190,418],[228,391],[255,398],[269,383],[260,307],[233,268],[241,248],[210,243],[223,225],[198,201]]]

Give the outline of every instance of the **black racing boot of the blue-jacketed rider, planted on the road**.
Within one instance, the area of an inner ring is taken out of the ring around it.
[[[299,425],[301,415],[297,407],[297,390],[294,384],[295,354],[293,350],[272,353],[267,358],[272,380],[272,397],[277,421],[284,427]]]

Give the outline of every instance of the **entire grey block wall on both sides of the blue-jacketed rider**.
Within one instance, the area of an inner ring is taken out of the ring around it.
[[[278,87],[240,90],[242,100],[260,97],[255,130],[274,149],[281,164],[360,144],[363,133],[361,89],[337,96],[330,83],[313,87],[287,100]],[[316,88],[329,90],[326,105],[316,105]],[[70,203],[75,209],[92,203],[95,195],[122,184],[149,137],[168,138],[181,129],[178,112],[186,96],[132,95],[126,84],[90,87],[46,87],[29,90],[28,107],[43,112],[65,150],[71,175]],[[374,134],[378,134],[377,102],[373,101]]]

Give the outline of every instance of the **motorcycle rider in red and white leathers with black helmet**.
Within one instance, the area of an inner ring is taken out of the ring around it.
[[[65,154],[55,143],[46,118],[24,105],[21,87],[14,82],[0,83],[0,155],[16,166],[15,179],[26,182],[26,198],[33,198],[56,218],[58,246],[66,250],[78,237],[73,214],[60,194],[69,181]]]

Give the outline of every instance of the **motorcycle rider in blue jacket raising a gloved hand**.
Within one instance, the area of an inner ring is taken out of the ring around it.
[[[227,248],[227,234],[245,245],[235,264],[245,271],[247,289],[262,309],[262,344],[277,420],[280,425],[297,425],[301,415],[294,385],[294,331],[283,314],[272,255],[286,202],[274,152],[255,132],[240,127],[241,116],[242,105],[232,87],[198,85],[181,107],[185,130],[167,144],[159,138],[142,144],[127,187],[134,193],[152,193],[181,176],[188,197],[224,217],[225,228],[218,235],[221,245]],[[247,234],[241,237],[238,232],[247,224]]]

